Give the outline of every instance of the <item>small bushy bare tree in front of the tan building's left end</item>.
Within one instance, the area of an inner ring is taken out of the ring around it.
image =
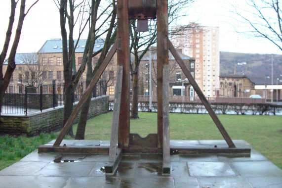
[[[22,81],[28,86],[44,82],[44,75],[52,69],[48,64],[43,64],[40,53],[21,53],[19,60],[21,61],[21,69],[19,74],[22,75]]]

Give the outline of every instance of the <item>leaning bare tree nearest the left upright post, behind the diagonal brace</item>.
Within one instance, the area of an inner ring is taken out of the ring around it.
[[[90,19],[90,28],[89,28],[89,50],[87,54],[87,74],[86,74],[86,86],[90,84],[90,81],[97,73],[98,68],[101,66],[103,60],[105,59],[108,50],[110,49],[111,45],[116,40],[116,30],[113,32],[114,27],[116,25],[116,15],[117,15],[117,8],[116,8],[116,0],[112,0],[109,4],[100,5],[101,0],[92,0],[91,4],[91,19]],[[100,9],[99,9],[100,7]],[[103,17],[106,15],[106,17]],[[100,22],[100,20],[103,21]],[[106,27],[105,27],[106,25]],[[107,29],[103,29],[103,27]],[[107,33],[106,39],[104,41],[104,46],[101,50],[93,52],[93,47],[95,45],[96,40],[104,33]],[[96,56],[100,53],[100,56],[95,64],[95,67],[92,69],[92,57]],[[104,74],[106,77],[106,74]],[[102,75],[103,78],[103,75]],[[86,102],[83,104],[81,108],[81,115],[79,119],[79,124],[77,128],[76,139],[83,140],[87,115],[89,111],[89,106],[91,102],[91,96],[89,96]]]

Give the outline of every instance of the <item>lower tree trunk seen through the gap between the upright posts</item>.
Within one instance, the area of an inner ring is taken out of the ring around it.
[[[138,71],[133,73],[131,119],[138,119]]]

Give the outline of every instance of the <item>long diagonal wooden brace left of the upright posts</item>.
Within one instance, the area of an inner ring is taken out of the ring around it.
[[[108,66],[110,60],[112,59],[112,57],[114,56],[115,52],[117,51],[117,41],[115,42],[115,44],[113,45],[113,47],[110,49],[110,51],[108,52],[108,54],[106,55],[105,59],[103,60],[101,66],[99,67],[99,69],[97,70],[96,74],[94,75],[93,79],[91,80],[89,86],[86,88],[84,94],[81,97],[81,100],[79,101],[78,105],[75,107],[75,109],[73,110],[71,116],[69,117],[68,121],[66,122],[65,126],[63,127],[63,129],[61,130],[60,135],[58,136],[57,140],[55,141],[53,146],[59,146],[60,143],[62,142],[62,140],[64,139],[64,137],[66,136],[68,130],[70,129],[70,127],[72,126],[74,120],[76,119],[79,111],[81,110],[82,105],[84,104],[84,102],[86,101],[86,99],[88,98],[88,96],[90,94],[92,94],[92,91],[94,89],[94,86],[96,85],[96,83],[98,82],[99,78],[101,77],[101,75],[103,74],[104,70],[106,69],[106,67]]]

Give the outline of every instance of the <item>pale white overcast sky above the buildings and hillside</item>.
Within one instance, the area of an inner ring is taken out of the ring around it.
[[[3,2],[4,1],[4,2]],[[27,0],[26,7],[34,0]],[[234,19],[234,14],[230,12],[231,6],[228,0],[196,0],[189,8],[189,17],[178,20],[179,24],[196,21],[203,26],[219,27],[219,50],[242,53],[279,53],[282,52],[271,42],[258,39],[247,38],[235,31],[242,27],[242,24]],[[244,6],[244,0],[234,0],[237,6]],[[19,12],[19,4],[17,6]],[[2,0],[0,6],[0,48],[2,49],[5,33],[10,15],[10,1]],[[15,17],[14,29],[16,28]],[[185,20],[185,22],[183,21]],[[15,30],[14,30],[15,31]],[[13,31],[13,34],[14,34]],[[75,36],[76,39],[77,36]],[[86,39],[87,34],[81,36]],[[38,51],[46,40],[61,38],[59,24],[59,10],[53,0],[40,0],[28,13],[24,20],[22,35],[17,52]],[[13,39],[13,35],[12,38]],[[11,46],[11,43],[10,43]]]

